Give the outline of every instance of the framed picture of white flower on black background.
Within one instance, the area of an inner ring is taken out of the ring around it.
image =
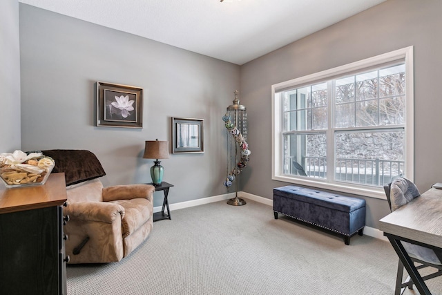
[[[97,82],[97,126],[143,128],[143,88]]]

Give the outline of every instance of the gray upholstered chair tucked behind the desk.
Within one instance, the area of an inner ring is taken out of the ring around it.
[[[384,186],[385,195],[387,196],[388,204],[390,205],[390,211],[395,211],[403,205],[411,202],[414,198],[421,196],[416,185],[407,180],[406,178],[396,178],[388,185]],[[436,276],[442,275],[442,254],[436,253],[430,248],[425,248],[419,245],[411,244],[410,242],[402,242],[405,251],[410,256],[416,269],[422,269],[424,267],[434,267],[437,272],[423,276],[423,280],[428,280],[430,278],[435,278]],[[401,260],[398,263],[398,272],[396,276],[396,287],[394,289],[394,294],[402,294],[405,287],[409,289],[413,288],[413,281],[410,276],[408,276],[404,282],[403,278],[403,264]]]

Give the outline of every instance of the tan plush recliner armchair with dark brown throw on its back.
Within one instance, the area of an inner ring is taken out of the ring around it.
[[[69,263],[119,261],[147,238],[153,227],[155,187],[128,184],[104,188],[98,179],[105,175],[104,170],[90,151],[42,152],[55,160],[53,172],[66,176],[68,206],[63,210],[70,218],[64,227]],[[77,169],[85,163],[84,171]]]

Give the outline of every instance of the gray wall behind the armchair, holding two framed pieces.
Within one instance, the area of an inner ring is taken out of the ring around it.
[[[88,149],[104,186],[150,182],[145,140],[169,140],[171,117],[205,120],[205,153],[162,160],[171,203],[226,193],[222,116],[240,67],[20,3],[23,150]],[[95,127],[95,82],[144,88],[143,129]],[[222,163],[222,164],[221,164]],[[158,192],[161,193],[161,192]],[[158,206],[162,198],[155,198]]]

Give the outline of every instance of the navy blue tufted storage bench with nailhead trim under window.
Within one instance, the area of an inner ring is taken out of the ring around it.
[[[364,199],[318,189],[291,185],[273,189],[273,212],[275,219],[280,213],[343,235],[345,245],[354,234],[362,236],[365,227]]]

